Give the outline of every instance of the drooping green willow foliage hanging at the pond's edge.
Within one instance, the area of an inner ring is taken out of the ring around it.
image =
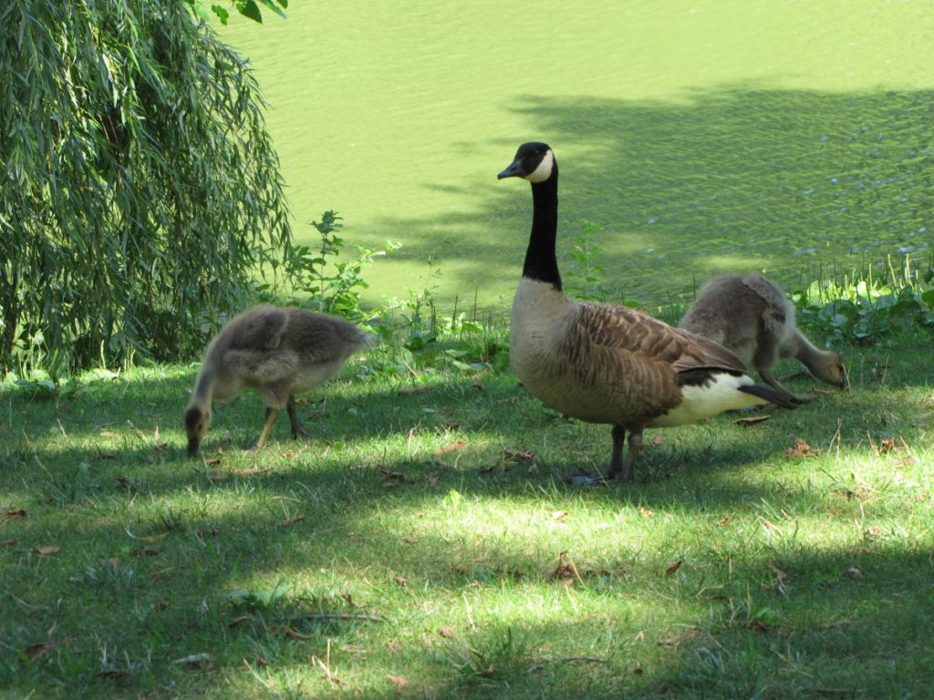
[[[184,0],[0,7],[0,372],[200,353],[290,227],[246,63]]]

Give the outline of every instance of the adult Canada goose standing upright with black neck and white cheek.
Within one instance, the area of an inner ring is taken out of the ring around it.
[[[519,381],[546,405],[613,426],[607,476],[632,478],[645,427],[680,426],[716,413],[792,404],[745,376],[726,348],[612,304],[568,299],[561,291],[558,162],[551,148],[523,144],[499,178],[531,182],[532,221],[513,301],[509,357]],[[629,430],[629,453],[622,451]]]

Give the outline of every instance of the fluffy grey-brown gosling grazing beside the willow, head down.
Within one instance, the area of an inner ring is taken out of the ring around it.
[[[350,357],[372,343],[371,337],[336,316],[261,304],[235,315],[207,346],[205,361],[185,408],[188,454],[194,455],[211,426],[214,400],[233,399],[256,389],[266,402],[260,449],[283,407],[291,436],[307,435],[295,412],[295,394],[322,385]]]

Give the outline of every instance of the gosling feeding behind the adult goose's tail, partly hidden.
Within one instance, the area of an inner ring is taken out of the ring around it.
[[[775,378],[771,370],[780,357],[795,357],[821,382],[847,387],[841,357],[814,347],[795,326],[794,305],[757,274],[712,279],[678,327],[729,348],[786,399],[801,402],[811,397],[791,393]]]

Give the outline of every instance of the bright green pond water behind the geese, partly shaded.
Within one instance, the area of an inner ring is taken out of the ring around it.
[[[292,0],[220,35],[253,64],[297,238],[403,247],[368,301],[508,308],[531,222],[517,146],[554,147],[559,256],[658,303],[715,273],[786,287],[934,231],[934,6],[911,0]],[[562,261],[568,271],[569,263]]]

